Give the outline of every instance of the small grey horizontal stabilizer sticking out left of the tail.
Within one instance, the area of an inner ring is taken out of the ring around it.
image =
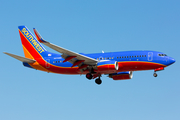
[[[11,54],[11,53],[4,52],[4,54],[9,55],[9,56],[11,56],[11,57],[21,61],[21,62],[25,62],[25,63],[34,63],[34,62],[36,62],[36,60],[32,60],[32,59],[29,59],[29,58],[21,57],[21,56],[14,55],[14,54]]]

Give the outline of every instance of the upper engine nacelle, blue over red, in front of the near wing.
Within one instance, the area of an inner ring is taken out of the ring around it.
[[[117,61],[100,61],[97,63],[98,71],[111,72],[119,69]]]

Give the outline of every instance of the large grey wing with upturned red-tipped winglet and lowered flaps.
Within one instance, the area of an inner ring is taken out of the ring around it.
[[[64,58],[65,60],[63,62],[70,62],[73,64],[72,67],[78,65],[79,67],[83,68],[83,67],[87,67],[87,65],[96,65],[97,64],[97,60],[90,58],[88,56],[67,50],[65,48],[59,47],[57,45],[54,45],[52,43],[49,43],[47,41],[45,41],[41,35],[37,32],[37,30],[34,28],[34,32],[35,35],[37,37],[37,40],[41,43],[43,43],[44,45],[56,50],[59,53],[62,53],[62,58]]]

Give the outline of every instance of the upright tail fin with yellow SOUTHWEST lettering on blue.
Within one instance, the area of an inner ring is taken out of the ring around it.
[[[36,59],[46,54],[46,49],[39,43],[26,26],[19,26],[19,34],[26,58]]]

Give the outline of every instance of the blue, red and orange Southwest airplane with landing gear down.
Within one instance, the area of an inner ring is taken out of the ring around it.
[[[174,58],[162,52],[148,50],[76,53],[44,40],[35,28],[36,38],[26,26],[18,26],[18,30],[25,57],[5,54],[21,61],[25,67],[48,73],[86,75],[89,80],[95,79],[98,85],[102,83],[103,74],[113,80],[128,80],[133,77],[134,71],[154,70],[153,76],[157,77],[157,71],[175,62]],[[47,51],[42,44],[60,54]]]

